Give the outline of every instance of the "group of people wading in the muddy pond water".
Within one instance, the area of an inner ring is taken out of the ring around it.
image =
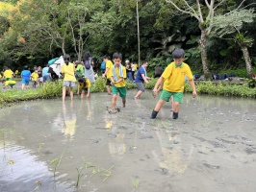
[[[177,119],[179,115],[180,104],[183,102],[183,91],[184,91],[184,83],[185,76],[187,77],[189,83],[192,86],[192,96],[196,96],[195,84],[193,82],[192,71],[190,66],[183,62],[185,57],[185,52],[183,49],[175,49],[173,51],[173,61],[167,65],[166,69],[161,70],[158,68],[156,70],[156,74],[159,76],[157,83],[153,89],[153,96],[156,97],[159,90],[163,89],[160,99],[153,109],[150,118],[155,119],[159,110],[164,106],[166,102],[168,102],[171,98],[172,101],[172,118]],[[71,100],[73,99],[72,87],[75,85],[75,76],[74,76],[74,66],[69,62],[70,57],[68,55],[64,56],[65,65],[63,66],[62,73],[64,74],[64,89],[63,89],[63,101],[65,98],[65,90],[66,87],[70,87],[70,96]],[[122,100],[122,107],[126,107],[126,86],[124,79],[127,77],[127,70],[124,67],[122,62],[122,55],[120,53],[115,53],[113,55],[113,61],[110,60],[110,57],[104,56],[104,62],[106,63],[106,69],[104,73],[102,73],[102,78],[106,79],[106,87],[108,90],[108,94],[112,95],[112,109],[111,113],[116,113],[120,110],[120,108],[116,108],[116,100],[117,95]],[[142,65],[138,70],[135,83],[138,87],[138,92],[135,95],[134,99],[140,99],[141,93],[144,91],[144,85],[148,84],[150,78],[146,76],[146,67],[148,66],[148,62],[146,60],[142,61]],[[73,71],[72,71],[73,70]],[[72,73],[71,73],[72,72]],[[72,74],[72,77],[70,76]],[[85,91],[85,88],[89,86],[90,81],[83,79],[83,81],[79,80],[80,88],[83,87],[82,91]],[[89,91],[89,90],[88,90]],[[88,93],[88,97],[90,94]],[[82,96],[81,96],[82,98]]]

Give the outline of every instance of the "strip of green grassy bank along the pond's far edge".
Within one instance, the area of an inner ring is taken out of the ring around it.
[[[147,89],[152,89],[156,84],[157,79],[153,79],[149,84],[145,84]],[[127,82],[128,89],[136,88],[136,84]],[[34,99],[51,99],[62,96],[63,82],[49,83],[37,89],[11,89],[0,92],[0,106],[5,106],[14,102],[28,101]],[[105,81],[101,78],[97,79],[91,87],[92,92],[105,92]],[[212,82],[199,82],[196,84],[197,94],[221,95],[221,96],[237,96],[256,98],[256,88],[249,88],[248,84],[214,84]],[[75,90],[76,91],[76,88]],[[185,84],[185,92],[192,92],[191,85]]]

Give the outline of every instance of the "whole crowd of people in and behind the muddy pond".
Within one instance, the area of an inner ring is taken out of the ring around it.
[[[175,49],[173,51],[173,61],[167,65],[166,69],[163,70],[161,67],[157,67],[155,70],[155,78],[159,77],[157,83],[153,88],[153,96],[156,97],[157,93],[163,89],[160,99],[153,109],[150,118],[156,118],[160,109],[164,106],[166,102],[171,99],[172,103],[172,118],[177,119],[179,114],[179,107],[183,101],[183,91],[185,77],[187,77],[189,83],[192,86],[192,96],[196,96],[196,89],[193,82],[192,71],[190,66],[183,62],[185,57],[185,52],[183,49]],[[142,61],[141,67],[137,69],[137,66],[133,66],[126,60],[126,65],[122,65],[122,55],[120,53],[115,53],[113,55],[113,61],[110,60],[109,56],[104,56],[103,61],[105,62],[104,70],[102,70],[102,78],[106,79],[106,88],[109,95],[112,95],[112,108],[111,113],[116,113],[120,108],[116,108],[117,95],[122,100],[122,107],[126,107],[126,85],[125,79],[128,77],[131,81],[135,82],[138,87],[138,92],[134,96],[134,99],[140,99],[142,92],[144,92],[144,83],[148,84],[150,78],[146,75],[146,68],[148,62],[146,60]],[[114,62],[114,63],[113,63]],[[133,63],[132,63],[133,64]],[[131,66],[131,68],[130,68]],[[36,84],[46,84],[47,81],[51,80],[51,72],[49,70],[49,65],[46,65],[41,69],[40,66],[34,67],[34,72],[28,70],[28,66],[24,66],[24,70],[21,72],[22,78],[22,89],[26,88],[29,81],[33,81],[33,86]],[[131,69],[131,71],[130,71]],[[136,77],[132,73],[136,74]],[[90,86],[95,82],[95,74],[92,69],[92,58],[90,52],[85,54],[84,60],[82,61],[70,61],[69,55],[64,55],[64,64],[62,65],[61,74],[64,78],[63,84],[63,102],[65,100],[66,88],[69,88],[70,99],[73,100],[73,87],[76,86],[78,82],[78,94],[81,92],[81,99],[85,97],[87,93],[87,98],[90,98]],[[130,75],[128,75],[130,74]],[[12,80],[12,72],[6,70],[4,76],[6,81]],[[130,77],[129,77],[130,76]],[[11,80],[10,80],[11,78]]]

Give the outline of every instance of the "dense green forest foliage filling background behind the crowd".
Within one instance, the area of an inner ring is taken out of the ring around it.
[[[211,2],[215,2],[214,11],[209,9]],[[207,29],[211,32],[205,34],[209,70],[217,72],[222,66],[244,67],[241,46],[230,40],[239,29],[251,39],[248,53],[251,64],[255,65],[253,8],[256,5],[253,3],[253,0],[138,1],[141,60],[149,60],[151,69],[159,65],[165,67],[172,60],[172,51],[181,47],[186,51],[186,62],[192,70],[203,73],[200,40],[201,30]],[[136,0],[2,1],[0,64],[11,68],[21,68],[25,64],[43,65],[65,53],[72,60],[81,60],[85,51],[90,51],[97,63],[104,55],[114,52],[122,53],[124,60],[137,62],[136,6]],[[237,9],[242,9],[241,13],[247,12],[248,20],[243,18],[243,27],[241,17],[235,17],[236,12],[233,12]],[[202,20],[198,23],[198,19]],[[212,36],[214,27],[216,33]]]

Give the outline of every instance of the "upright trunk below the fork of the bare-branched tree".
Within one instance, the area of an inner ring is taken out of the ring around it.
[[[201,59],[202,59],[202,65],[203,65],[203,71],[204,71],[204,76],[206,80],[210,79],[210,71],[208,69],[208,58],[207,58],[207,33],[206,30],[201,29],[201,36],[199,40],[200,48],[201,48]]]

